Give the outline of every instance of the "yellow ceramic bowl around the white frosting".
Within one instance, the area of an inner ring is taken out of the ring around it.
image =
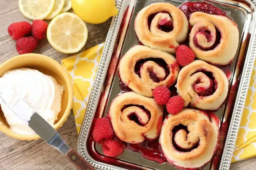
[[[54,129],[58,129],[63,125],[70,115],[73,102],[73,88],[68,73],[64,68],[56,62],[54,59],[41,55],[41,54],[22,54],[7,60],[0,66],[0,76],[8,70],[17,69],[20,67],[31,68],[39,70],[40,72],[51,75],[57,82],[64,87],[62,101],[61,101],[61,112],[58,114],[58,120],[54,122]],[[10,130],[2,109],[0,109],[0,130],[16,139],[20,140],[37,140],[40,137],[36,135],[21,135]]]

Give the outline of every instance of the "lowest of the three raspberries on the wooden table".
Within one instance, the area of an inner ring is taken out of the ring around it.
[[[33,37],[21,37],[16,41],[16,49],[19,54],[32,53],[37,47],[38,40]]]

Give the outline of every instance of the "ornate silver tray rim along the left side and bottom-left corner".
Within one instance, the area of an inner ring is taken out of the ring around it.
[[[119,168],[116,166],[112,166],[109,164],[98,162],[88,154],[86,141],[88,138],[90,126],[92,124],[92,120],[97,108],[97,104],[99,102],[102,86],[105,80],[105,76],[108,70],[108,66],[110,63],[110,59],[114,50],[115,40],[118,36],[119,28],[122,22],[122,18],[124,15],[124,10],[126,6],[127,0],[118,0],[116,3],[116,7],[119,11],[118,15],[113,17],[108,35],[106,37],[106,42],[102,51],[101,59],[99,62],[98,70],[95,76],[95,80],[92,86],[92,91],[89,97],[87,110],[85,113],[85,117],[83,120],[83,125],[81,126],[79,138],[78,138],[78,152],[83,156],[92,166],[101,170],[125,170],[124,168]]]

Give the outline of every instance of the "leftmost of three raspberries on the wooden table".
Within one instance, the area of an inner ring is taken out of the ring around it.
[[[8,27],[8,33],[13,40],[18,40],[19,38],[28,34],[30,31],[31,31],[31,24],[27,21],[12,23]]]

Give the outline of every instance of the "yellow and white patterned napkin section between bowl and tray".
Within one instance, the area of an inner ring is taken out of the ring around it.
[[[68,71],[72,79],[74,91],[73,113],[78,133],[83,123],[103,47],[104,43],[101,43],[61,61],[62,66]]]

